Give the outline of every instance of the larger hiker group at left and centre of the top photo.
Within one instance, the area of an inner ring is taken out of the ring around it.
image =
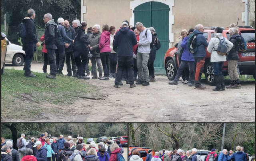
[[[23,49],[26,53],[24,65],[26,77],[36,77],[30,71],[33,52],[36,46],[40,45],[37,40],[35,16],[35,11],[29,9],[28,17],[25,17],[18,26],[18,34],[22,37]],[[40,41],[43,45],[44,73],[47,73],[47,65],[50,64],[50,75],[46,75],[47,78],[56,79],[56,74],[63,75],[66,57],[69,77],[100,80],[115,78],[114,87],[123,85],[122,80],[126,80],[131,88],[136,86],[134,81],[144,86],[156,81],[154,60],[156,51],[160,48],[160,41],[154,27],[146,28],[140,22],[131,27],[125,20],[120,23],[121,27],[117,31],[114,26],[109,27],[104,24],[101,32],[100,25],[96,24],[88,27],[86,33],[86,22],[80,23],[79,20],[74,20],[71,26],[68,20],[58,18],[56,24],[49,13],[44,15],[43,20],[46,27]],[[24,32],[26,34],[22,34]],[[92,77],[88,66],[89,60],[92,63]]]

